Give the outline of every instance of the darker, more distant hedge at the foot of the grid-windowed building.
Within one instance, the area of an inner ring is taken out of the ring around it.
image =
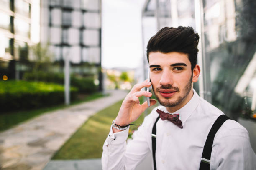
[[[26,72],[23,75],[23,79],[64,84],[64,74],[60,73]],[[92,77],[76,77],[75,75],[71,75],[70,84],[71,86],[77,87],[80,93],[93,93],[97,91],[97,86],[94,84]]]

